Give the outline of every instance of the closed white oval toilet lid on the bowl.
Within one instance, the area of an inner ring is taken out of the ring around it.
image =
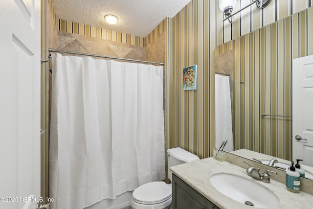
[[[172,188],[165,182],[150,182],[139,186],[133,192],[136,202],[146,204],[161,203],[172,197]]]

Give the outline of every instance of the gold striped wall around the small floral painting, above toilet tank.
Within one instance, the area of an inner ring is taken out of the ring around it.
[[[211,155],[215,141],[215,95],[210,91],[214,90],[215,8],[215,1],[192,0],[168,23],[166,149],[181,147],[200,158]],[[183,91],[182,70],[193,65],[198,65],[197,90]]]

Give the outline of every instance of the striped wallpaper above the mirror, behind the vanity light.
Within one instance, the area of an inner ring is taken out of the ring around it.
[[[252,5],[234,16],[234,23],[223,22],[223,12],[219,9],[217,16],[217,46],[236,39],[268,24],[282,20],[292,14],[305,10],[313,5],[313,0],[272,0],[264,9],[256,9]],[[234,12],[248,5],[248,0],[237,0]]]

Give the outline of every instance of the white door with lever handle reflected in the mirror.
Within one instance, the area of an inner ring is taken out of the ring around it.
[[[313,55],[293,60],[293,161],[313,166]]]

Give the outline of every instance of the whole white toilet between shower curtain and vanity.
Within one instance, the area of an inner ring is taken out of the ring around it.
[[[167,150],[168,178],[172,180],[170,167],[181,163],[199,160],[194,155],[179,147]],[[169,209],[172,203],[172,184],[150,182],[139,186],[133,192],[132,209]]]

